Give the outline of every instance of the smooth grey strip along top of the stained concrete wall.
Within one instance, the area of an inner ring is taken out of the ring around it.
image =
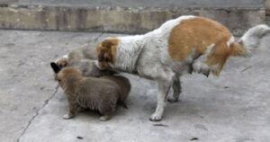
[[[263,7],[264,0],[14,0],[15,4],[86,7]]]

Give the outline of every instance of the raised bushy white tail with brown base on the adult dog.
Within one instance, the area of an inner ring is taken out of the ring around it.
[[[237,42],[230,44],[229,56],[250,57],[252,50],[257,49],[267,33],[270,33],[270,28],[266,24],[249,29]]]

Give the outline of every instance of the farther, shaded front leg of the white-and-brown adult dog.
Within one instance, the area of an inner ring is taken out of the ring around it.
[[[169,96],[167,99],[167,101],[169,102],[177,102],[179,99],[179,94],[182,93],[182,87],[178,76],[175,76],[174,78],[173,90],[174,90],[173,96]]]

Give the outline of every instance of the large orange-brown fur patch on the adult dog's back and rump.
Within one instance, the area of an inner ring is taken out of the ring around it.
[[[214,44],[206,64],[209,67],[218,64],[214,74],[219,75],[229,58],[227,42],[230,37],[229,30],[220,22],[196,17],[184,20],[173,28],[168,40],[168,52],[171,58],[182,61],[192,49],[195,49],[197,55],[201,55],[207,47]]]

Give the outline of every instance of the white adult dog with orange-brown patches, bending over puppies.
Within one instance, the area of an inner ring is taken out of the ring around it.
[[[115,68],[157,81],[157,108],[149,120],[161,120],[166,96],[170,102],[181,93],[179,77],[184,73],[220,75],[229,57],[248,57],[260,39],[270,32],[261,24],[249,29],[239,40],[211,19],[180,16],[143,35],[107,38],[97,45],[98,66]]]

